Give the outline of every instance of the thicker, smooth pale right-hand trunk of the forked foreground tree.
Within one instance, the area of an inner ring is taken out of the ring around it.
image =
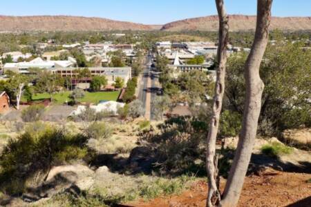
[[[252,155],[258,117],[261,112],[261,96],[264,88],[263,81],[259,75],[259,68],[269,36],[271,7],[272,0],[258,0],[255,39],[245,63],[246,95],[243,126],[220,206],[236,206],[238,204]]]

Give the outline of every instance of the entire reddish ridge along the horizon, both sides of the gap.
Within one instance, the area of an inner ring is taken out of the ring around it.
[[[256,16],[230,15],[232,31],[254,30]],[[272,17],[271,29],[311,30],[311,17]],[[0,31],[109,31],[109,30],[218,30],[218,16],[185,19],[161,25],[144,25],[97,17],[72,16],[0,16]]]

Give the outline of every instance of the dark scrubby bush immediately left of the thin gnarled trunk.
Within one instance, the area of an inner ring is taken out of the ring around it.
[[[140,135],[140,143],[150,148],[160,172],[185,173],[205,171],[207,124],[194,117],[171,118]]]

